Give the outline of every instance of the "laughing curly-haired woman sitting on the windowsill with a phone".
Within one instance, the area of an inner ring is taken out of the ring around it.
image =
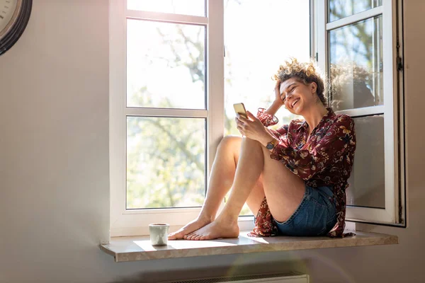
[[[343,236],[354,122],[325,107],[324,81],[313,62],[291,59],[273,77],[272,105],[259,109],[257,117],[237,115],[244,137],[222,139],[198,218],[170,233],[170,240],[236,238],[245,202],[256,215],[250,236]],[[268,129],[283,105],[305,120]],[[230,187],[229,200],[215,218]]]

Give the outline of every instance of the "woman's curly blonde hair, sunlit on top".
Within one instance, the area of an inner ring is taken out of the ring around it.
[[[312,59],[309,62],[298,62],[296,58],[290,57],[289,60],[285,60],[285,63],[279,66],[278,71],[272,77],[275,81],[280,80],[280,83],[291,78],[295,78],[305,85],[312,82],[316,83],[317,96],[319,96],[323,105],[327,107],[327,98],[324,96],[327,83]]]

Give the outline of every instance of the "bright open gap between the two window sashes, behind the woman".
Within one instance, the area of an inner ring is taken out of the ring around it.
[[[309,0],[225,0],[225,55],[225,134],[239,135],[233,104],[244,103],[254,115],[268,108],[274,99],[271,76],[283,59],[310,58]],[[295,117],[283,108],[276,116],[279,125]],[[245,207],[242,214],[251,212]]]

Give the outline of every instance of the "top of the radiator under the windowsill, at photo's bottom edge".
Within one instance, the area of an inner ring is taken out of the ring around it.
[[[300,273],[288,272],[280,274],[269,275],[239,275],[232,277],[216,277],[216,278],[203,278],[191,279],[186,281],[174,281],[169,283],[309,283],[308,275],[301,275]]]

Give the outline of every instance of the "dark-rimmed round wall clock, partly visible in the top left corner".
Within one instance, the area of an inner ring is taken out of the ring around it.
[[[0,55],[21,37],[32,6],[33,0],[0,0]]]

